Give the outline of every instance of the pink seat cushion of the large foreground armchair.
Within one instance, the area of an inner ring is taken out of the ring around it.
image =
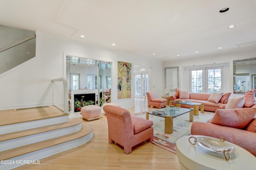
[[[135,134],[148,129],[153,125],[153,121],[135,116],[132,116],[132,123]]]

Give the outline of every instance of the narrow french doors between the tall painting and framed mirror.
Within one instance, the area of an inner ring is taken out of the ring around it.
[[[135,74],[135,97],[144,98],[148,92],[148,73]]]

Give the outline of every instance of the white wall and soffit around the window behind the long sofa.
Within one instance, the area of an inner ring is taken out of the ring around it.
[[[201,68],[203,66],[224,66],[222,91],[233,92],[233,60],[254,57],[256,57],[256,42],[240,45],[237,49],[196,55],[193,58],[177,58],[176,60],[164,62],[164,67],[179,66],[179,88],[182,90],[189,90],[190,68]],[[172,92],[172,94],[174,93],[175,92]]]

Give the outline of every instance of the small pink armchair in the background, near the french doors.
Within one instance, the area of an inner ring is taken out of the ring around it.
[[[146,92],[148,98],[148,107],[154,106],[161,109],[162,107],[166,107],[166,99],[164,98],[156,98],[156,93],[154,92]]]

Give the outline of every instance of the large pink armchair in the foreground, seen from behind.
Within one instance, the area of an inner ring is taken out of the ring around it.
[[[131,116],[121,107],[107,105],[104,111],[108,119],[108,142],[122,145],[126,154],[143,141],[153,141],[153,121]]]

